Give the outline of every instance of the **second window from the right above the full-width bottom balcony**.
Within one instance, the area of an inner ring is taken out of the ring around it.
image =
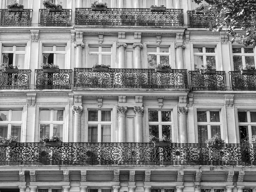
[[[204,143],[215,134],[221,136],[220,111],[197,111],[198,143]]]

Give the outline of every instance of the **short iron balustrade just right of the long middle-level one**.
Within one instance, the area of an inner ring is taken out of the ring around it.
[[[200,74],[199,71],[189,71],[192,90],[226,90],[225,71],[215,74]]]

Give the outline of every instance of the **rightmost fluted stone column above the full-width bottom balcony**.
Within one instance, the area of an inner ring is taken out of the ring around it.
[[[187,143],[186,137],[186,114],[188,113],[188,108],[186,107],[178,107],[179,120],[180,120],[180,143]]]

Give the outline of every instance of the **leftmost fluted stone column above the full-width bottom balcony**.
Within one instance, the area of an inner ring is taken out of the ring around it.
[[[81,115],[83,113],[82,106],[73,106],[74,113],[74,139],[73,142],[80,142],[81,139]]]

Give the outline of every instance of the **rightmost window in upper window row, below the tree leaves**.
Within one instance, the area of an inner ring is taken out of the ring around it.
[[[235,71],[242,70],[246,65],[255,67],[255,52],[253,47],[233,47],[232,53]]]

